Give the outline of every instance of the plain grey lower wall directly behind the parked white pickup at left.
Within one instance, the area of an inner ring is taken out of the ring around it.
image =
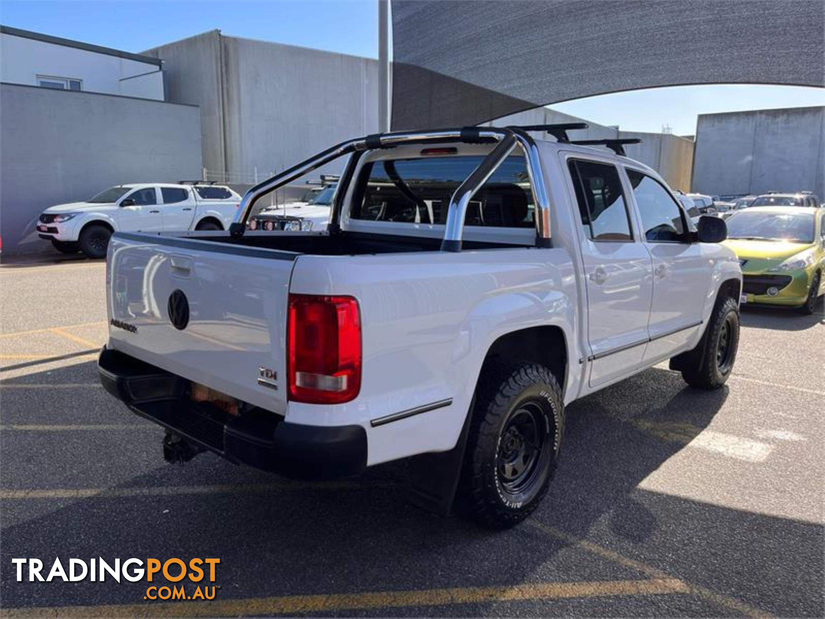
[[[197,107],[0,84],[3,253],[53,251],[34,229],[49,206],[125,182],[197,178],[200,167]]]

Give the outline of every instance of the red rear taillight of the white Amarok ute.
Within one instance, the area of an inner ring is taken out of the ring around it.
[[[351,296],[290,295],[290,399],[349,402],[361,389],[361,316]]]

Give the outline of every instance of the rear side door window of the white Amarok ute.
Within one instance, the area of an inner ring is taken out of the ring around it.
[[[593,241],[632,241],[619,172],[608,163],[568,162],[584,234]]]

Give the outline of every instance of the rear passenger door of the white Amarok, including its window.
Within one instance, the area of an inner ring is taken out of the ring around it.
[[[571,193],[582,226],[590,385],[632,374],[648,343],[650,254],[634,230],[619,170],[609,160],[570,157]]]

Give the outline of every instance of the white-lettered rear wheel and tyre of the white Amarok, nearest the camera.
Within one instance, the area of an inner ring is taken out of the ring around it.
[[[484,526],[512,527],[538,507],[559,460],[561,388],[544,366],[497,366],[481,377],[471,414],[459,506]]]

